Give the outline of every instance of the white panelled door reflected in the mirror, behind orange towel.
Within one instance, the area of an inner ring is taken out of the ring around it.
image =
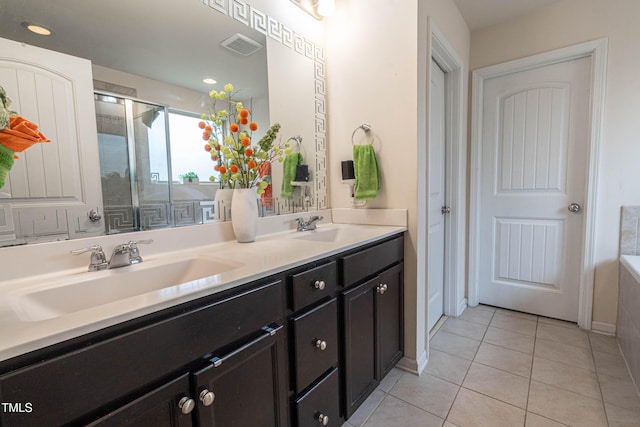
[[[102,213],[91,62],[0,38],[0,84],[11,108],[51,140],[20,153],[2,189],[11,195],[11,236],[103,234],[102,220],[88,216]]]

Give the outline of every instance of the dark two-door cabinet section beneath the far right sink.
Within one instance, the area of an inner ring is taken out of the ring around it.
[[[340,295],[345,419],[403,354],[402,241],[398,238],[342,258],[345,283],[362,282]]]

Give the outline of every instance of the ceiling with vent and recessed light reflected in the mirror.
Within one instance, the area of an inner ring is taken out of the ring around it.
[[[23,21],[49,27],[53,36],[35,35]],[[258,73],[266,81],[266,49],[242,56],[220,46],[236,33],[266,44],[263,34],[202,0],[0,0],[0,37],[202,93],[230,82],[246,88],[243,95],[264,95],[249,88]],[[218,84],[206,85],[206,77]]]

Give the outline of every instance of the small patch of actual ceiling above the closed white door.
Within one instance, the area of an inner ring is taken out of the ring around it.
[[[562,0],[453,0],[475,31]]]

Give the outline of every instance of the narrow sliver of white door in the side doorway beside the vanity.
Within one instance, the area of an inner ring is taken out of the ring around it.
[[[427,330],[444,311],[445,218],[445,76],[431,60],[429,106],[429,250]]]

